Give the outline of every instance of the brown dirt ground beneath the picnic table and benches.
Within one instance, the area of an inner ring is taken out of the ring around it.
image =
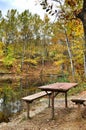
[[[86,92],[82,94],[86,95]],[[86,106],[81,106],[78,113],[77,105],[71,102],[75,97],[68,97],[68,108],[64,107],[64,98],[55,99],[54,120],[51,119],[51,108],[47,107],[47,99],[41,99],[32,104],[31,119],[27,119],[25,106],[24,111],[9,123],[1,123],[0,130],[86,130]]]

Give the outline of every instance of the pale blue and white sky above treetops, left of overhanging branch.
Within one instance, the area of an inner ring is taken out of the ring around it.
[[[0,0],[0,10],[2,11],[2,15],[5,16],[10,9],[17,9],[19,13],[29,9],[32,14],[37,13],[42,19],[45,14],[45,11],[36,0]]]

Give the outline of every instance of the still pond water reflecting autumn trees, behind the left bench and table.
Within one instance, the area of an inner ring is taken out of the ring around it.
[[[0,111],[8,113],[8,116],[22,110],[21,98],[36,93],[38,87],[57,81],[57,75],[40,77],[26,76],[19,79],[7,79],[0,81]]]

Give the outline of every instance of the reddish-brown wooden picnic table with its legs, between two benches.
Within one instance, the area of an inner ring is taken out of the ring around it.
[[[49,84],[46,86],[40,86],[38,87],[39,89],[41,89],[42,91],[45,91],[46,93],[48,91],[51,92],[51,101],[52,101],[52,119],[54,119],[54,99],[56,97],[57,94],[59,93],[64,93],[65,94],[65,107],[68,107],[68,103],[67,103],[67,92],[77,86],[77,83],[53,83],[53,84]]]

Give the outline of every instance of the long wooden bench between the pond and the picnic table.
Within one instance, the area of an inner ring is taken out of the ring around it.
[[[30,118],[30,103],[32,103],[34,100],[42,98],[44,96],[48,95],[49,96],[49,104],[48,107],[50,107],[50,95],[51,92],[45,92],[45,91],[41,91],[26,97],[23,97],[22,100],[26,102],[27,104],[27,118]]]

